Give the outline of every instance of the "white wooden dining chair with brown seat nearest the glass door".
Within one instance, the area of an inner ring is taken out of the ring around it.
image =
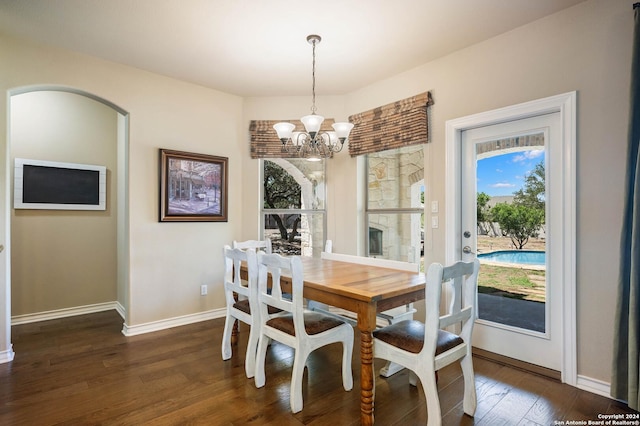
[[[464,412],[473,417],[476,410],[471,335],[476,319],[479,270],[478,259],[456,262],[447,267],[433,263],[427,271],[425,322],[406,320],[373,332],[374,356],[411,370],[412,385],[415,386],[420,379],[427,400],[429,426],[442,423],[436,371],[453,362],[460,362],[462,367]],[[445,285],[449,289],[450,303],[441,312],[442,288]],[[459,334],[445,328],[456,328]]]

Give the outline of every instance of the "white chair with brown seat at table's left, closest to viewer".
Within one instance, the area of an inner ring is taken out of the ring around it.
[[[307,358],[311,352],[322,346],[342,343],[342,385],[346,391],[353,388],[353,327],[333,316],[304,309],[303,273],[302,262],[298,256],[258,254],[258,301],[262,319],[255,383],[258,388],[265,385],[265,357],[267,346],[272,339],[293,348],[295,355],[291,373],[290,405],[294,413],[301,411],[303,406],[302,379]],[[283,274],[291,277],[291,299],[283,296]],[[269,276],[271,292],[267,292]],[[283,313],[269,318],[266,316],[269,307],[281,309]]]

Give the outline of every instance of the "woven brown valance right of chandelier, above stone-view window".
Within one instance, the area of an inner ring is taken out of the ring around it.
[[[431,105],[431,93],[425,92],[350,116],[355,126],[349,136],[349,154],[355,157],[428,142]]]

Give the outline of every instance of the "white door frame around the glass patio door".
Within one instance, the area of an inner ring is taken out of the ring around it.
[[[561,273],[562,309],[562,381],[577,385],[576,347],[576,92],[538,99],[493,111],[448,120],[445,123],[446,170],[445,205],[450,212],[445,227],[447,264],[460,259],[461,182],[460,158],[462,132],[477,127],[520,120],[536,115],[560,112],[562,137],[563,196],[563,271]]]

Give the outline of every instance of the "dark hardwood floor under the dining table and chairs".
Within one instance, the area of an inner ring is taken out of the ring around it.
[[[12,328],[15,360],[0,364],[0,425],[357,425],[359,359],[354,389],[345,392],[338,345],[316,351],[305,373],[304,409],[289,411],[293,352],[274,343],[267,383],[244,374],[248,328],[222,361],[223,319],[125,337],[115,311]],[[356,338],[358,338],[356,333]],[[376,360],[376,368],[383,365]],[[474,358],[478,409],[462,412],[457,366],[440,371],[445,425],[553,425],[632,413],[623,404],[542,376]],[[422,390],[406,372],[376,380],[376,424],[424,424]]]

